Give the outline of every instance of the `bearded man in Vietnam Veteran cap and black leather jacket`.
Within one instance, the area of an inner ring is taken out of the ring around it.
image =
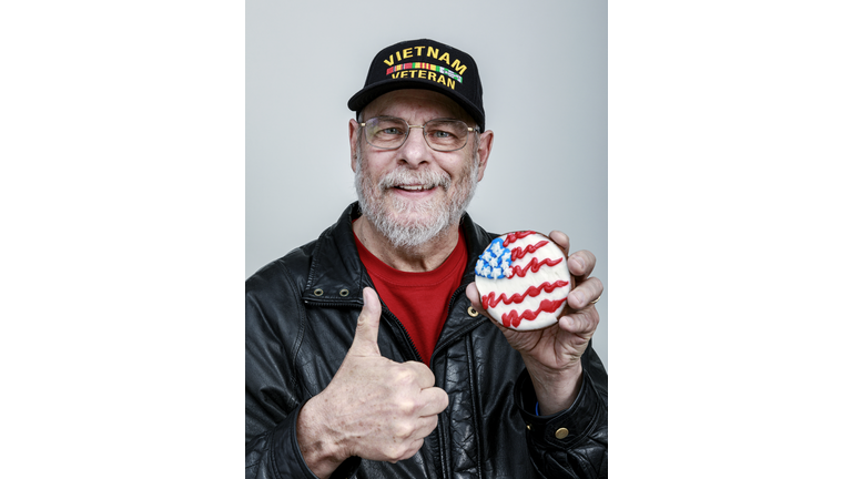
[[[390,45],[348,106],[358,202],[246,282],[246,477],[606,477],[595,256],[568,256],[541,330],[494,322],[473,283],[497,236],[465,213],[494,140],[474,59]]]

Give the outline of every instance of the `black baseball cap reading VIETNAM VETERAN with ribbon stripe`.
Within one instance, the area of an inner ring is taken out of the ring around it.
[[[361,113],[378,96],[402,89],[432,90],[449,96],[485,131],[479,69],[474,58],[462,50],[428,39],[385,48],[373,59],[364,88],[349,99],[348,108]]]

